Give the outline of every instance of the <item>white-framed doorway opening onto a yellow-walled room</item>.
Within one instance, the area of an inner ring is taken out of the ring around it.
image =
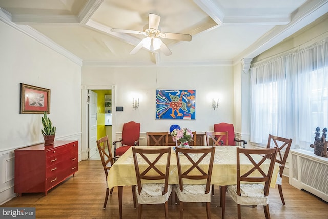
[[[111,139],[115,139],[115,110],[111,111],[111,117],[112,117],[112,123],[110,128],[106,128],[104,125],[103,120],[105,120],[104,118],[104,114],[105,114],[105,96],[99,96],[99,93],[103,92],[107,92],[107,93],[111,93],[111,107],[113,109],[115,109],[115,86],[114,85],[110,85],[110,86],[96,86],[96,85],[83,85],[81,86],[81,103],[82,103],[82,107],[81,107],[81,126],[82,126],[82,134],[81,134],[81,157],[82,160],[87,160],[89,158],[89,154],[92,155],[90,156],[91,159],[100,159],[99,156],[99,152],[97,151],[97,153],[93,153],[91,154],[91,150],[92,150],[92,145],[89,144],[89,126],[91,125],[89,122],[89,102],[90,102],[90,96],[88,95],[89,90],[98,93],[98,100],[101,99],[101,101],[98,101],[97,103],[97,108],[101,108],[99,105],[103,106],[102,110],[100,113],[97,113],[97,127],[103,127],[103,131],[101,131],[99,134],[97,134],[97,139],[103,136],[100,135],[104,135],[104,133],[106,133],[106,135],[110,135]],[[98,109],[97,109],[98,112]],[[108,112],[108,111],[107,111]],[[102,115],[101,115],[102,114]],[[104,132],[105,130],[105,132]],[[106,131],[107,130],[107,131]],[[103,134],[101,134],[103,133]],[[109,137],[110,137],[109,136]],[[112,140],[111,140],[112,141]],[[98,156],[98,157],[97,157]]]

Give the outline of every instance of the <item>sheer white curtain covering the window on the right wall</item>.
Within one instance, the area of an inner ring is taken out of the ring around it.
[[[252,64],[251,142],[266,144],[272,134],[309,148],[316,127],[328,127],[327,114],[328,39]]]

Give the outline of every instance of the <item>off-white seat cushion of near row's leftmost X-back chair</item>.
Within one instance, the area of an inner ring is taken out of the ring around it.
[[[163,183],[146,183],[141,185],[142,189],[139,195],[138,186],[136,186],[136,194],[138,203],[140,204],[161,204],[168,201],[172,192],[172,185],[168,185],[168,192],[162,194],[164,191]]]

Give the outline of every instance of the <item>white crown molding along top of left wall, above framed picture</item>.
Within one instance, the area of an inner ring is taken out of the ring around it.
[[[6,10],[0,8],[0,21],[6,23],[10,27],[18,30],[19,32],[24,33],[25,35],[35,39],[37,42],[43,44],[44,46],[54,50],[55,52],[65,56],[66,58],[70,59],[72,62],[78,64],[79,66],[82,65],[82,60],[78,58],[76,55],[72,54],[71,52],[67,51],[63,47],[59,46],[58,44],[54,43],[43,34],[40,34],[38,31],[33,29],[28,25],[17,25],[11,21],[11,14]]]

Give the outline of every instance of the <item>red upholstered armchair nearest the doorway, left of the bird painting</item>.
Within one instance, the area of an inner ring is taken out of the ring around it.
[[[123,124],[122,139],[114,141],[114,156],[123,155],[131,146],[139,145],[140,123],[130,121]],[[118,147],[121,143],[120,147]]]

